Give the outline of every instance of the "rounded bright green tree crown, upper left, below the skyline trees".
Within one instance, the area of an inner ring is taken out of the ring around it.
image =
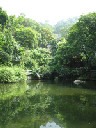
[[[38,46],[38,35],[39,34],[30,27],[21,27],[16,29],[14,37],[21,47],[32,49]]]

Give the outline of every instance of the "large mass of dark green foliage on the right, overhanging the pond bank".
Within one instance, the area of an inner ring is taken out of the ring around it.
[[[81,16],[65,40],[57,43],[54,71],[63,78],[86,76],[96,69],[96,13]]]

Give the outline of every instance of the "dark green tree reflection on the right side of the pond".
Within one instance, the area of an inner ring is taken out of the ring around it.
[[[67,126],[68,128],[72,127],[72,123],[96,121],[96,96],[94,95],[60,96],[55,97],[54,101],[62,122],[70,124],[69,127]],[[58,114],[56,115],[58,117]]]

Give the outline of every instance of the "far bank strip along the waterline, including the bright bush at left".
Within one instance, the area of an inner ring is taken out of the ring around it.
[[[82,72],[82,71],[81,71]],[[33,73],[32,70],[24,70],[20,67],[0,67],[0,83],[13,83],[26,80],[54,80],[54,81],[70,81],[70,80],[96,81],[96,70],[90,70],[83,73],[70,72],[60,75],[56,72],[45,74]]]

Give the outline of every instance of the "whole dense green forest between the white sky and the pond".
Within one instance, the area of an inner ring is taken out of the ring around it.
[[[96,13],[51,26],[0,8],[0,82],[32,78],[90,80],[96,70]]]

